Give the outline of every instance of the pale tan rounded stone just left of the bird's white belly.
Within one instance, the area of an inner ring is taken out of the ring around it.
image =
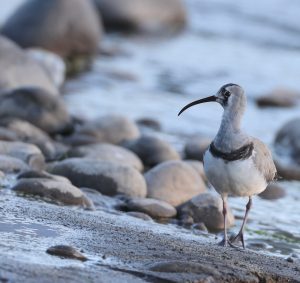
[[[189,164],[183,161],[161,163],[145,174],[149,198],[178,206],[206,191],[206,186]]]

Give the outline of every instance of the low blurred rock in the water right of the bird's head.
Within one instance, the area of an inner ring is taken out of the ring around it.
[[[278,88],[267,95],[258,97],[256,104],[259,107],[293,107],[297,105],[299,97],[299,93]]]

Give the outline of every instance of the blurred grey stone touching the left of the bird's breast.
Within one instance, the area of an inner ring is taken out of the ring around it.
[[[203,161],[203,155],[211,143],[210,138],[193,137],[187,141],[184,147],[185,159]]]

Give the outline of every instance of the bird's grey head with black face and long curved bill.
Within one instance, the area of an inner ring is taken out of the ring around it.
[[[196,101],[193,101],[186,106],[184,106],[180,112],[178,113],[178,116],[187,110],[188,108],[205,102],[218,102],[222,105],[224,110],[227,112],[244,112],[244,109],[246,107],[246,96],[244,94],[244,90],[242,87],[240,87],[237,84],[226,84],[223,85],[216,95],[208,96],[206,98],[198,99]]]

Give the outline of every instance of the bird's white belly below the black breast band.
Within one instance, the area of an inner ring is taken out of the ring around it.
[[[266,180],[255,167],[252,158],[226,162],[212,156],[207,150],[203,161],[207,179],[221,195],[251,196],[261,193],[267,187]]]

